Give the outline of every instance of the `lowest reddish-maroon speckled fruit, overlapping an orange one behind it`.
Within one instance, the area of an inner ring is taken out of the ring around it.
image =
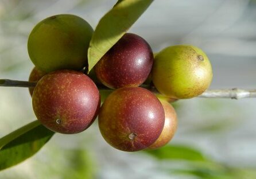
[[[123,151],[143,150],[152,145],[164,127],[164,108],[148,89],[116,89],[99,112],[99,129],[111,146]]]

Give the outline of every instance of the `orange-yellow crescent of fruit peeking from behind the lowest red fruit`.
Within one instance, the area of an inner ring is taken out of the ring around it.
[[[165,111],[164,129],[162,129],[157,141],[150,145],[148,149],[158,149],[166,145],[173,138],[177,129],[177,115],[174,108],[165,100],[160,100],[160,102]]]

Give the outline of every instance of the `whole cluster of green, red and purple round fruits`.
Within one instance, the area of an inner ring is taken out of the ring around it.
[[[35,67],[29,81],[38,82],[29,90],[37,119],[57,133],[75,134],[98,116],[100,133],[116,149],[164,146],[176,131],[176,112],[139,86],[148,79],[168,98],[200,95],[212,80],[207,56],[195,46],[177,45],[154,57],[148,42],[126,33],[95,65],[96,77],[89,77],[84,71],[92,34],[85,20],[70,14],[46,18],[30,33],[28,52]],[[101,107],[96,82],[114,90]]]

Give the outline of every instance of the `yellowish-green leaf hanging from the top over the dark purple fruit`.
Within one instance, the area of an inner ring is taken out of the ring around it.
[[[125,34],[153,0],[123,0],[105,14],[96,26],[88,49],[88,71]]]

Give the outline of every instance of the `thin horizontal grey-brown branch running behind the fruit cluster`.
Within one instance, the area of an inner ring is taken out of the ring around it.
[[[35,87],[36,82],[29,81],[17,81],[0,79],[0,87]],[[101,84],[97,85],[99,89],[107,89]],[[149,89],[154,93],[159,93],[157,89],[152,85],[141,85],[141,87]],[[197,96],[199,98],[231,98],[231,99],[241,99],[241,98],[256,98],[256,89],[208,89],[203,94]]]

